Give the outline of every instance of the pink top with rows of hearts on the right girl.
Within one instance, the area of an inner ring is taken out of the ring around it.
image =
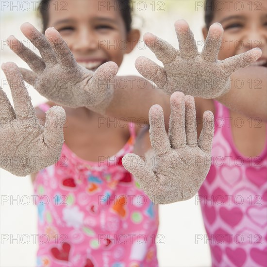
[[[212,166],[196,196],[207,236],[196,241],[210,243],[213,266],[266,267],[267,145],[257,157],[240,154],[229,110],[217,101],[215,106]]]

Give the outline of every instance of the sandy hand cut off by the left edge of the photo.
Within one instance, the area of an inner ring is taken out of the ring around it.
[[[51,107],[45,127],[41,126],[17,65],[5,63],[2,69],[11,89],[14,108],[0,88],[0,167],[17,176],[25,176],[59,160],[66,114],[62,107]]]

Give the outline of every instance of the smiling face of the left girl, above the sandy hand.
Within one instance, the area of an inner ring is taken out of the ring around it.
[[[56,8],[56,2],[50,1],[48,27],[55,27],[83,67],[95,70],[108,61],[120,66],[123,55],[139,39],[139,31],[127,33],[117,0],[106,5],[98,0],[69,0],[65,8]]]

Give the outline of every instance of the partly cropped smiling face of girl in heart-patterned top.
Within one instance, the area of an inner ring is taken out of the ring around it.
[[[255,65],[267,67],[267,1],[243,0],[234,5],[233,1],[215,0],[213,15],[211,24],[219,22],[224,29],[219,60],[259,47],[262,57]],[[203,35],[206,38],[206,28]]]

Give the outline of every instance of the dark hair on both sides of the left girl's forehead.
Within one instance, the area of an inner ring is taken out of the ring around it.
[[[125,23],[125,28],[127,33],[129,33],[132,29],[132,6],[131,0],[116,0],[117,6],[116,8],[120,10],[122,19]],[[43,33],[47,29],[48,21],[49,21],[49,0],[41,0],[38,6],[38,13],[42,20],[42,30]]]

